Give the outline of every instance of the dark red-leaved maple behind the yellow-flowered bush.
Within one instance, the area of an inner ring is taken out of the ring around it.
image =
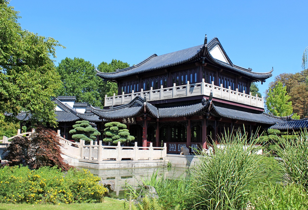
[[[23,165],[32,169],[43,166],[55,166],[68,170],[70,165],[64,163],[58,134],[51,129],[39,127],[29,138],[17,136],[4,150],[10,166]]]

